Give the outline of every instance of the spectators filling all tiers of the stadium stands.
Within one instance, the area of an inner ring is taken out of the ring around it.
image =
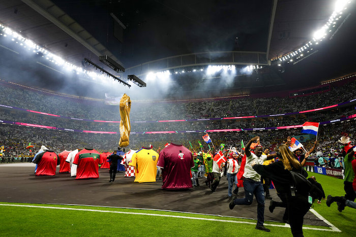
[[[82,119],[95,119],[105,121],[120,121],[118,107],[104,105],[103,101],[91,101],[76,99],[49,93],[39,92],[32,89],[1,82],[2,93],[0,93],[0,104],[14,106],[27,110],[40,111],[61,116]],[[146,122],[135,123],[134,121],[157,121],[176,119],[197,118],[221,118],[249,115],[280,114],[295,111],[330,106],[353,99],[353,91],[356,82],[350,82],[342,87],[332,87],[330,91],[302,96],[285,98],[250,98],[240,97],[231,100],[202,100],[181,102],[143,103],[132,102],[130,119],[131,131],[186,131],[186,130],[208,130],[229,128],[259,128],[277,127],[303,124],[305,121],[328,121],[345,117],[354,113],[354,105],[348,105],[337,110],[323,112],[304,113],[292,116],[276,116],[271,118],[252,119],[226,119],[207,121],[184,121],[184,122]],[[0,107],[0,119],[33,123],[53,127],[62,127],[77,130],[92,131],[118,131],[118,123],[86,122],[66,118],[41,115],[15,109]],[[354,134],[354,120],[345,123],[330,124],[322,126],[319,131],[319,145],[316,151],[322,152],[323,157],[335,156],[340,145],[337,143],[341,132],[350,133],[351,139]],[[299,135],[299,129],[272,130],[256,132],[220,132],[211,133],[215,146],[220,143],[227,147],[238,147],[241,140],[248,141],[258,135],[262,145],[274,148],[276,144],[283,142],[287,136]],[[31,156],[29,150],[25,149],[31,142],[36,152],[41,145],[53,149],[56,153],[64,149],[70,150],[91,146],[99,151],[113,150],[117,147],[120,139],[118,134],[87,134],[80,132],[69,132],[59,130],[48,130],[17,125],[0,126],[0,145],[5,146],[7,155]],[[175,141],[200,150],[198,141],[202,133],[174,133],[174,134],[138,134],[130,137],[128,148],[137,149],[144,145],[153,145],[154,148],[163,148],[164,144]],[[311,147],[313,141],[305,142],[306,147]],[[204,149],[208,149],[204,144]],[[315,154],[313,154],[315,157]],[[328,165],[328,164],[326,164]]]

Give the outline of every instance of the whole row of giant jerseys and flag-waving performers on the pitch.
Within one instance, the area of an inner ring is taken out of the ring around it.
[[[354,157],[356,146],[343,136],[342,152],[345,163],[343,197],[327,198],[330,207],[336,201],[338,210],[342,212],[345,206],[355,207],[353,202],[356,197],[356,159]],[[156,152],[150,145],[139,150],[118,148],[114,152],[99,153],[93,148],[63,151],[55,154],[42,146],[35,155],[36,176],[55,175],[56,166],[60,165],[60,173],[70,173],[75,179],[99,178],[99,167],[109,168],[110,181],[115,181],[117,171],[125,172],[125,177],[135,177],[134,182],[156,182],[157,177],[162,177],[163,189],[191,189],[199,186],[198,178],[206,178],[205,185],[214,192],[220,183],[222,176],[228,180],[227,194],[231,199],[229,208],[236,205],[251,205],[253,196],[257,200],[257,225],[256,229],[269,232],[264,227],[265,199],[271,199],[269,210],[273,212],[275,207],[284,207],[283,221],[290,224],[293,236],[303,236],[303,218],[311,207],[312,199],[325,198],[320,184],[311,177],[311,187],[302,190],[296,188],[291,173],[299,173],[305,178],[308,176],[303,166],[310,153],[317,145],[303,154],[302,149],[293,152],[289,149],[290,138],[287,142],[278,145],[273,154],[269,148],[262,147],[259,137],[252,138],[244,149],[239,152],[235,148],[224,150],[215,146],[209,151],[191,151],[182,144],[171,142],[162,150]],[[280,202],[272,200],[269,193],[271,181],[276,188]],[[239,187],[244,188],[245,197],[237,198]],[[266,193],[266,194],[264,194]],[[235,195],[233,195],[235,194]]]

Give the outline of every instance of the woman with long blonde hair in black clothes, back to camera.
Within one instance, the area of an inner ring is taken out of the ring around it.
[[[301,173],[304,177],[308,175],[287,145],[280,144],[278,146],[277,156],[279,157],[277,162],[270,165],[255,164],[252,167],[258,174],[273,181],[276,191],[287,206],[293,236],[303,236],[303,218],[311,204],[308,202],[308,193],[298,192],[291,188],[293,180],[289,171]],[[292,195],[293,192],[295,196]]]

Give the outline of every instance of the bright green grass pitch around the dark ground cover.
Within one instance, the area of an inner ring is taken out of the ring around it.
[[[322,184],[325,194],[344,194],[343,180],[311,175]],[[8,202],[0,202],[0,210],[2,236],[291,236],[284,223],[266,222],[271,229],[267,233],[255,230],[254,220],[199,214]],[[354,209],[346,207],[340,213],[336,204],[329,208],[322,200],[322,204],[314,204],[314,210],[341,232],[330,231],[329,227],[304,226],[305,236],[354,236]]]

